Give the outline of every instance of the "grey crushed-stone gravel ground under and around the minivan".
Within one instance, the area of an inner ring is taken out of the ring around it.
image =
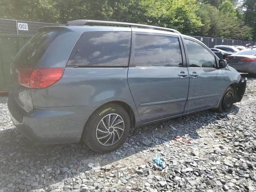
[[[115,152],[36,145],[0,97],[0,192],[256,191],[256,78],[230,113],[204,111],[137,128]],[[184,140],[173,140],[181,137]],[[164,166],[152,158],[162,154]]]

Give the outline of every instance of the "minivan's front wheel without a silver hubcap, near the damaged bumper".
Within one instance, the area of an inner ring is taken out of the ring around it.
[[[234,103],[234,90],[232,87],[229,86],[226,89],[221,99],[221,102],[216,110],[217,112],[229,112],[233,107],[233,103]]]

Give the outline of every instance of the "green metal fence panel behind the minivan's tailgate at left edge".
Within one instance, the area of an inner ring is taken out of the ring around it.
[[[32,35],[0,34],[0,90],[11,87],[10,64],[31,37]]]

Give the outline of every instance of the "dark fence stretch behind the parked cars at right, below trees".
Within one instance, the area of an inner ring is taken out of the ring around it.
[[[241,40],[233,40],[233,39],[220,39],[220,38],[211,38],[211,37],[200,37],[200,36],[192,36],[204,44],[206,44],[209,48],[213,48],[215,45],[238,45],[245,46],[250,43],[250,46],[256,45],[255,41],[241,41]]]

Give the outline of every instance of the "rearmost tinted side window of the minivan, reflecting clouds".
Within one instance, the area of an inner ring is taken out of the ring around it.
[[[128,66],[131,38],[131,32],[86,32],[67,66]]]

